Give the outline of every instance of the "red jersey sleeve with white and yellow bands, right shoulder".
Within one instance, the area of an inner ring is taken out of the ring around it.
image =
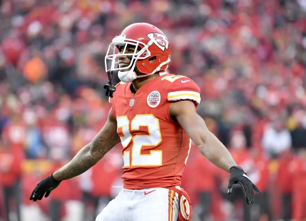
[[[168,101],[192,101],[196,107],[200,104],[200,88],[190,78],[183,77],[175,80],[168,90]]]

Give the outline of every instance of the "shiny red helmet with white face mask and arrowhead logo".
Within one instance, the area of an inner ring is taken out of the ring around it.
[[[134,53],[119,53],[119,48],[125,52],[128,45],[135,46]],[[137,49],[140,50],[137,52]],[[106,72],[121,71],[132,66],[131,70],[136,67],[144,76],[164,72],[170,62],[170,53],[170,42],[161,30],[148,23],[135,23],[123,29],[110,43],[105,57],[105,69]],[[129,66],[119,66],[118,56],[122,55],[131,58]],[[155,62],[151,63],[149,59],[154,56]],[[111,64],[108,64],[108,60],[111,60]]]

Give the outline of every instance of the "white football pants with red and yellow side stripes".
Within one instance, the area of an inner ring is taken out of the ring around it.
[[[173,190],[122,188],[118,196],[97,216],[96,221],[177,221],[178,212],[179,198]]]

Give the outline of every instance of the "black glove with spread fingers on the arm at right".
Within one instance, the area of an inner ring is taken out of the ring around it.
[[[233,166],[230,168],[230,180],[227,186],[227,194],[233,192],[233,186],[238,183],[244,193],[247,204],[253,203],[254,190],[261,194],[258,188],[252,183],[241,167]]]

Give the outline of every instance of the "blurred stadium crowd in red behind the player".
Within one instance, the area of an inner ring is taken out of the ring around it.
[[[120,145],[50,197],[28,200],[103,126],[104,55],[115,35],[140,21],[166,33],[168,71],[200,86],[199,114],[263,192],[252,206],[239,189],[229,197],[228,174],[192,146],[182,186],[194,220],[306,217],[304,0],[0,2],[0,219],[7,205],[10,220],[18,208],[23,221],[94,220],[94,208],[116,195]]]

